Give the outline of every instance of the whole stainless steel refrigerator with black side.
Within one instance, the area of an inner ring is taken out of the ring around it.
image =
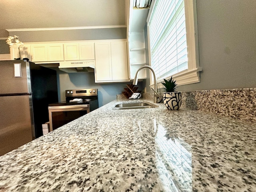
[[[42,136],[48,104],[58,102],[56,70],[0,61],[0,156]]]

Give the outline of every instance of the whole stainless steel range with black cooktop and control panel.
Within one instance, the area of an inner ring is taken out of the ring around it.
[[[66,101],[48,106],[50,131],[99,107],[97,89],[66,90]]]

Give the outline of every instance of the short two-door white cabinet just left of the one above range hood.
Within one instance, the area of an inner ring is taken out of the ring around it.
[[[31,44],[31,61],[64,61],[63,44]]]

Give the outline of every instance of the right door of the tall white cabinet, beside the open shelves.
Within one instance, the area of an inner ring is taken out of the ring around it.
[[[111,42],[112,80],[128,80],[126,42]]]

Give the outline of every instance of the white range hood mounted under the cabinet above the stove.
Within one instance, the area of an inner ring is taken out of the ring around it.
[[[67,73],[94,72],[95,61],[60,62],[59,69]]]

